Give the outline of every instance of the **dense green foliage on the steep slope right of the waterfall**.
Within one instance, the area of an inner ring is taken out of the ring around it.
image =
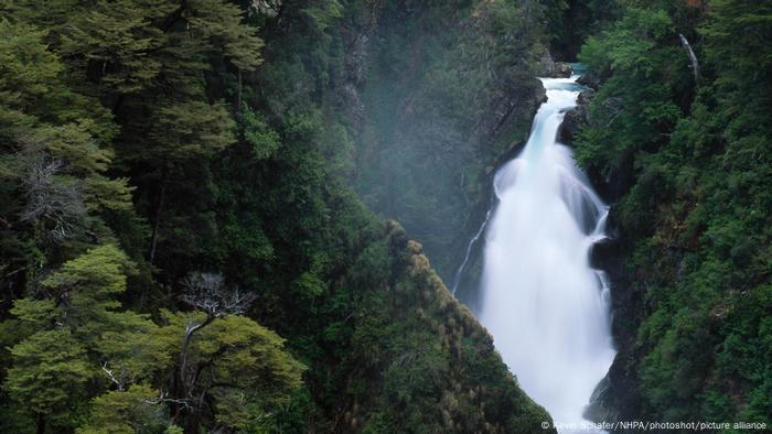
[[[602,85],[577,155],[628,184],[615,213],[631,287],[619,291],[641,300],[616,319],[641,400],[628,411],[769,423],[772,4],[622,3],[579,56]]]

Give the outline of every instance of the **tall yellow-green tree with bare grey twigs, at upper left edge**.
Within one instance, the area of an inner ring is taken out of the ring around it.
[[[15,290],[7,300],[67,246],[109,238],[103,218],[131,207],[127,180],[106,173],[116,126],[96,99],[72,90],[46,36],[0,18],[0,249],[8,267],[0,282]]]

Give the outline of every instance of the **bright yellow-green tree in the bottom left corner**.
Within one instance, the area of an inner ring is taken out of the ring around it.
[[[72,413],[88,398],[84,387],[100,376],[99,338],[126,319],[115,312],[115,297],[126,289],[128,270],[131,263],[118,248],[99,246],[62,265],[35,296],[15,301],[11,313],[32,334],[11,348],[6,388],[28,403],[39,432],[49,423],[71,426]]]

